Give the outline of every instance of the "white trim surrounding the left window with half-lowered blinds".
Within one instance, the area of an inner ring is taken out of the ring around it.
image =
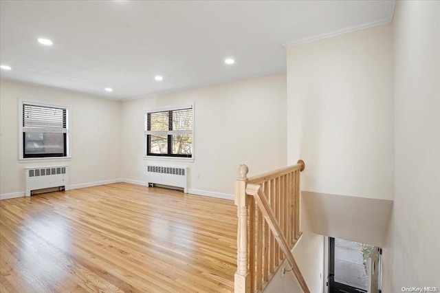
[[[46,158],[23,158],[23,104],[42,107],[61,107],[67,109],[67,156],[65,157],[46,157]],[[70,106],[63,104],[56,104],[52,102],[42,102],[37,100],[19,100],[19,162],[62,162],[72,160],[72,127]]]

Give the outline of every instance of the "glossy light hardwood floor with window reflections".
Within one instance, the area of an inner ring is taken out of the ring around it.
[[[234,202],[109,184],[0,201],[0,292],[233,292]]]

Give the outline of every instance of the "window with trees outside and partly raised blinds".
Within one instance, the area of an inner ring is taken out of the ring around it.
[[[147,111],[146,155],[192,158],[192,107]]]

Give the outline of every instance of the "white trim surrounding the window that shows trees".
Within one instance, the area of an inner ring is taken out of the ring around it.
[[[195,158],[195,133],[194,133],[194,125],[195,125],[195,102],[188,102],[185,104],[179,104],[179,105],[170,105],[170,106],[162,106],[162,107],[156,107],[151,109],[146,109],[144,111],[144,117],[146,113],[152,113],[152,112],[159,112],[159,111],[170,111],[170,110],[179,110],[179,109],[186,109],[186,108],[192,108],[192,154],[191,158],[178,158],[178,157],[162,157],[162,156],[156,156],[156,155],[147,155],[146,154],[146,135],[144,131],[144,160],[155,160],[155,161],[174,161],[174,162],[194,162]],[[145,121],[143,121],[145,123]],[[144,130],[144,127],[142,127]]]

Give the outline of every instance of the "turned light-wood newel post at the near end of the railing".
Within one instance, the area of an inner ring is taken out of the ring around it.
[[[237,229],[236,246],[236,272],[234,276],[234,292],[250,292],[250,275],[248,270],[248,206],[249,197],[246,195],[246,184],[248,183],[248,166],[240,165],[238,169],[239,178],[235,181],[235,205],[236,215],[239,218]]]

